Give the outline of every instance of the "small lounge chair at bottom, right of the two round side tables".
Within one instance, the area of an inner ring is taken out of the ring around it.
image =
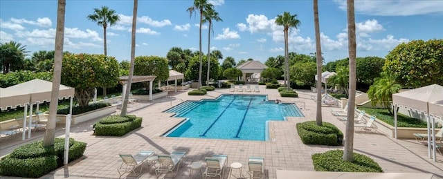
[[[226,155],[213,155],[212,157],[205,158],[206,169],[204,176],[207,178],[219,176],[223,178],[223,171],[226,170],[226,164],[228,163],[228,156]]]

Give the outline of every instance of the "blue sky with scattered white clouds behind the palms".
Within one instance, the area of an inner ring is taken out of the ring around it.
[[[315,52],[312,1],[210,1],[222,22],[211,32],[211,50],[224,57],[253,58],[265,62],[284,55],[281,26],[275,17],[288,11],[301,21],[292,29],[289,51],[309,55]],[[320,32],[326,62],[347,57],[346,1],[319,1]],[[86,17],[93,8],[108,6],[120,15],[116,26],[108,28],[108,55],[118,61],[130,58],[133,1],[67,0],[64,50],[72,53],[103,53],[103,30]],[[136,56],[165,57],[174,46],[199,49],[199,16],[190,17],[188,0],[138,1]],[[443,1],[359,1],[355,0],[357,57],[385,57],[402,42],[443,38]],[[18,41],[30,55],[53,50],[57,21],[57,1],[0,1],[0,41]],[[208,28],[202,30],[202,49],[208,51]]]

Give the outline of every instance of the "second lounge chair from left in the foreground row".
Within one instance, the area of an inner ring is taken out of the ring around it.
[[[171,155],[159,154],[159,167],[155,169],[156,176],[160,176],[161,173],[171,172],[174,177],[177,176],[180,165],[183,163],[186,152],[173,151]],[[176,170],[174,173],[174,169]]]

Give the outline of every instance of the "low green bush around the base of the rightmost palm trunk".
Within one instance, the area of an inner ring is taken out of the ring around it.
[[[345,171],[345,172],[383,172],[380,165],[368,156],[354,153],[354,161],[343,160],[342,150],[332,150],[312,155],[316,171]]]

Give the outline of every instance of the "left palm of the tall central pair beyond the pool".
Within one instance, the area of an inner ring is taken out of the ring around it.
[[[210,3],[208,3],[207,0],[194,0],[194,4],[192,4],[192,6],[190,8],[188,8],[189,12],[189,17],[192,16],[192,13],[195,13],[196,10],[199,12],[200,14],[200,26],[199,26],[199,60],[200,60],[200,67],[199,67],[199,86],[198,88],[201,87],[201,55],[203,55],[203,53],[201,52],[201,24],[203,23],[203,15],[204,12],[206,12],[206,10],[208,9],[212,9],[214,8],[214,6]]]

